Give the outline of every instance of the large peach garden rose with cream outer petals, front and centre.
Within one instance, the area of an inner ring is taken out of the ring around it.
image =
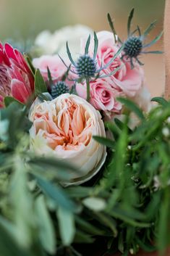
[[[77,165],[80,173],[72,173],[77,183],[87,181],[100,170],[106,147],[93,139],[106,136],[100,113],[73,94],[62,94],[51,102],[34,104],[30,110],[31,144],[36,152],[50,154]],[[43,145],[36,148],[36,140]]]

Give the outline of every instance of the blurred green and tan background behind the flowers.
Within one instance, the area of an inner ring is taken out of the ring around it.
[[[116,21],[116,30],[126,38],[127,15],[135,7],[134,25],[143,30],[158,20],[150,40],[163,28],[164,0],[0,0],[0,39],[35,38],[41,30],[54,31],[64,25],[84,24],[93,30],[109,30],[106,14]],[[160,41],[153,49],[162,49]],[[153,96],[163,92],[163,56],[146,56],[145,72]]]

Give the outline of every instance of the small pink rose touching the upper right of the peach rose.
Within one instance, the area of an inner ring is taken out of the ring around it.
[[[96,110],[118,114],[122,110],[122,104],[116,101],[116,96],[120,96],[121,93],[112,84],[110,78],[98,78],[90,82],[90,103]],[[77,94],[85,99],[87,94],[85,84],[77,84],[76,89]]]

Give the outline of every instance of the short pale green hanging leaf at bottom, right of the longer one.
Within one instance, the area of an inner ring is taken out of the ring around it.
[[[64,246],[69,246],[75,237],[75,220],[74,215],[69,210],[59,207],[57,210],[59,219],[59,231]]]

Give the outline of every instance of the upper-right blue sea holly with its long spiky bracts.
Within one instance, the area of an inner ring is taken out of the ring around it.
[[[146,48],[152,46],[153,44],[156,44],[156,42],[161,38],[163,32],[161,32],[156,38],[153,39],[149,44],[145,44],[145,39],[147,38],[150,31],[155,27],[156,21],[152,22],[148,28],[144,31],[143,34],[141,34],[139,26],[134,31],[131,31],[131,23],[132,18],[134,15],[134,8],[129,13],[129,17],[127,20],[127,40],[122,42],[122,40],[116,35],[116,30],[114,28],[114,23],[111,20],[111,16],[108,14],[108,20],[109,25],[111,27],[111,30],[114,33],[115,41],[118,41],[119,44],[123,46],[124,54],[122,54],[122,59],[125,57],[126,60],[130,61],[131,68],[134,67],[133,60],[137,61],[139,65],[143,65],[142,62],[140,62],[140,55],[141,54],[162,54],[162,51],[145,51]]]

